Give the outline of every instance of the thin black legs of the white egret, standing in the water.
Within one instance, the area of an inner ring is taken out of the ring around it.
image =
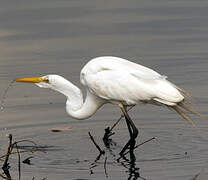
[[[120,155],[122,156],[124,154],[124,152],[126,151],[126,149],[128,149],[128,147],[129,147],[130,159],[131,159],[131,161],[135,161],[134,147],[135,147],[135,143],[136,143],[135,139],[138,135],[138,129],[136,128],[133,121],[129,117],[129,115],[126,111],[126,108],[122,104],[120,104],[120,108],[125,116],[126,124],[127,124],[128,130],[129,130],[129,135],[130,135],[130,140],[123,147],[123,149],[120,152]]]

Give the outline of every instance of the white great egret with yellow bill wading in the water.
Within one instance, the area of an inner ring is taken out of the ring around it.
[[[195,126],[190,117],[180,107],[198,113],[184,104],[185,92],[152,69],[119,57],[97,57],[89,61],[81,70],[80,81],[86,87],[85,101],[81,90],[59,75],[17,79],[16,82],[35,83],[42,88],[54,89],[67,97],[66,111],[75,119],[92,116],[103,104],[116,104],[122,110],[130,134],[130,140],[121,151],[133,149],[138,130],[128,115],[127,106],[136,104],[165,105],[174,109],[184,119]]]

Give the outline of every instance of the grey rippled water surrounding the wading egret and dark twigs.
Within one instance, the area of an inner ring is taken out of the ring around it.
[[[45,74],[60,74],[82,88],[79,72],[84,64],[96,56],[114,55],[167,75],[192,94],[194,107],[207,115],[207,8],[207,1],[192,0],[2,1],[1,97],[11,80]],[[47,150],[47,154],[35,155],[32,166],[22,166],[22,179],[106,179],[105,157],[90,174],[98,152],[88,131],[103,148],[104,128],[120,117],[118,108],[105,105],[95,116],[80,122],[66,114],[61,94],[17,83],[9,88],[4,107],[0,116],[1,154],[10,133],[17,140],[31,139]],[[198,126],[195,130],[162,107],[137,106],[130,115],[140,130],[138,143],[157,137],[135,151],[141,177],[190,180],[203,172],[201,176],[207,179],[206,119],[192,117]],[[51,132],[52,128],[68,126],[71,130]],[[128,140],[124,121],[114,131],[117,146],[107,153],[108,179],[127,179],[128,169],[112,155],[117,156]],[[15,166],[11,172],[17,177]]]

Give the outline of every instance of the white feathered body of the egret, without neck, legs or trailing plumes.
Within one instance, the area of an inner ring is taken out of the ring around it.
[[[118,57],[98,57],[89,61],[80,74],[90,92],[110,102],[135,105],[151,100],[176,105],[184,96],[165,76]]]

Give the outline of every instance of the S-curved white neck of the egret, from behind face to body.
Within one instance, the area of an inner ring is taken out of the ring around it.
[[[85,102],[81,90],[65,78],[57,75],[50,76],[50,84],[47,87],[56,90],[67,97],[66,110],[75,119],[86,119],[92,116],[105,100],[97,97],[87,90]]]

